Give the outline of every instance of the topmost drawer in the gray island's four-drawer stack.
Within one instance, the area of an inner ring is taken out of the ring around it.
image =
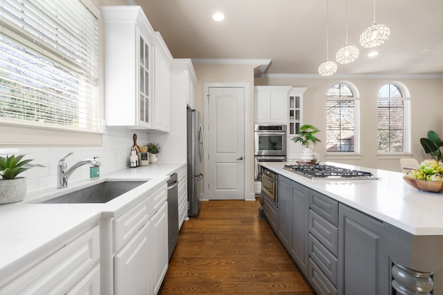
[[[318,191],[309,190],[309,207],[333,225],[338,225],[338,202]]]

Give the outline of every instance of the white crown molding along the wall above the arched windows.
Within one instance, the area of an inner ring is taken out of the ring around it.
[[[261,77],[274,79],[443,79],[443,74],[338,74],[327,77],[318,74],[263,74]]]

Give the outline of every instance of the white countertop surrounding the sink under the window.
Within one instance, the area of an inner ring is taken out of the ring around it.
[[[164,185],[186,163],[157,163],[107,173],[96,180],[69,183],[28,193],[25,200],[0,206],[0,283],[46,251],[91,227],[102,217],[118,216],[142,200],[143,193]],[[149,180],[104,204],[35,204],[105,180]],[[1,285],[1,284],[0,284]]]

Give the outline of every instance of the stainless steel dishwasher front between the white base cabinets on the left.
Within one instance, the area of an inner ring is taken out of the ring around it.
[[[177,240],[179,239],[179,180],[177,173],[168,180],[168,253],[171,259]]]

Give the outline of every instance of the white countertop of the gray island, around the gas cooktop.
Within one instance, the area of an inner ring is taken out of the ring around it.
[[[320,163],[368,171],[378,180],[311,180],[283,169],[282,162],[260,162],[260,165],[284,177],[314,189],[358,209],[374,218],[388,222],[416,236],[443,235],[443,193],[419,191],[404,180],[404,173]],[[289,162],[288,164],[293,164]]]

